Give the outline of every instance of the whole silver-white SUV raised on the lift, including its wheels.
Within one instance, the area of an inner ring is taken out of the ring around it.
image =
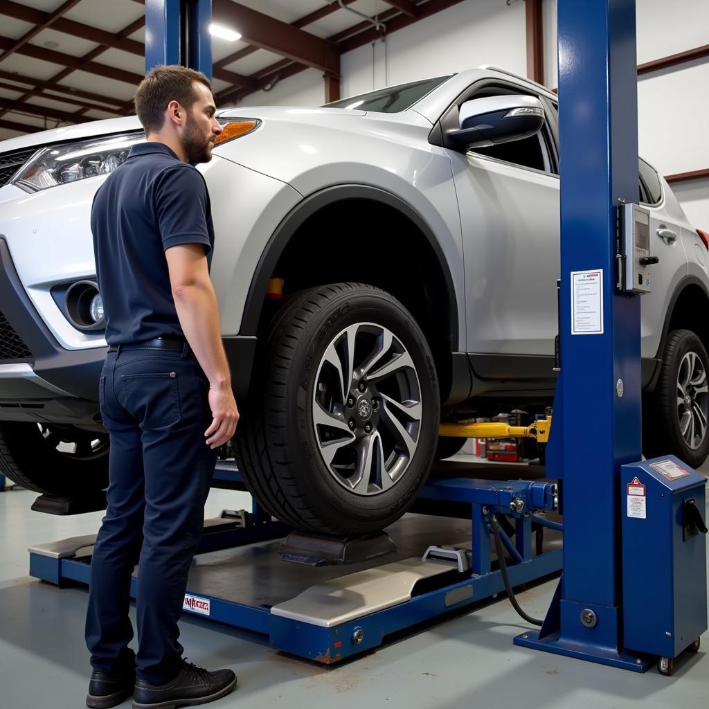
[[[557,97],[484,67],[250,123],[199,169],[211,194],[240,471],[270,513],[367,532],[410,506],[441,421],[541,412],[554,394]],[[135,118],[0,146],[0,468],[31,489],[106,486],[106,343],[89,211]],[[709,241],[640,161],[644,452],[709,452]],[[185,196],[189,199],[189,195]]]

